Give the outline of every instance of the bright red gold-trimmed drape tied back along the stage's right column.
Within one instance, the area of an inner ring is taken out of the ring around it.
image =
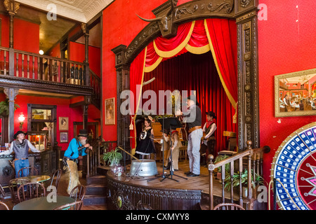
[[[216,55],[216,62],[220,70],[218,75],[223,78],[224,89],[235,107],[237,103],[236,22],[235,20],[207,19],[206,24],[213,45],[213,53]]]

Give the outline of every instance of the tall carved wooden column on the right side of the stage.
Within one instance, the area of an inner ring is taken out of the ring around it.
[[[235,2],[238,60],[238,147],[259,148],[257,1]]]

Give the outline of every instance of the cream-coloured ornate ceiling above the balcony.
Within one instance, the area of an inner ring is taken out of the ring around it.
[[[100,13],[106,6],[114,0],[15,0],[27,6],[32,6],[40,10],[49,12],[55,7],[58,15],[76,20],[88,22],[95,15]],[[54,5],[51,5],[51,4]]]

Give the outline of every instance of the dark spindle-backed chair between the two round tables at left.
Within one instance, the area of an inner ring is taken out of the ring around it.
[[[42,183],[25,183],[18,188],[18,200],[24,202],[34,197],[45,197],[46,190]]]

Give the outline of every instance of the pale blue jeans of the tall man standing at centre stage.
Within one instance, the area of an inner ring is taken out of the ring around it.
[[[189,134],[187,142],[187,155],[189,156],[190,172],[199,174],[199,146],[203,137],[202,129],[195,130]]]

